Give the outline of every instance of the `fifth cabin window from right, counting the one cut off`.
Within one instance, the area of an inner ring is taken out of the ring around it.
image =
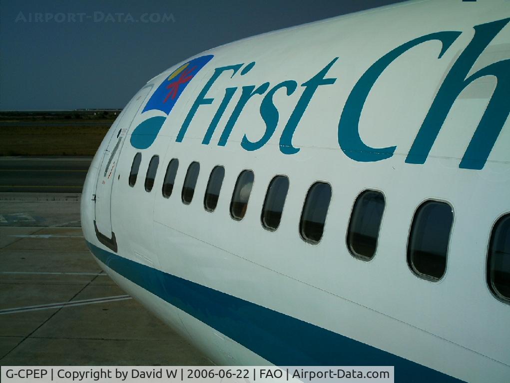
[[[278,228],[288,190],[289,179],[286,176],[276,176],[269,183],[261,216],[262,226],[265,229],[274,231]]]

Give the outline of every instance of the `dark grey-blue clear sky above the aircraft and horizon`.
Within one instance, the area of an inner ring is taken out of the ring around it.
[[[401,0],[2,0],[0,110],[123,108],[215,46]]]

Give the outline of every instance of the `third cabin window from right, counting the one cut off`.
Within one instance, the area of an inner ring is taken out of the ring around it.
[[[347,248],[354,257],[374,256],[384,207],[384,196],[375,190],[365,190],[356,198],[347,230]]]

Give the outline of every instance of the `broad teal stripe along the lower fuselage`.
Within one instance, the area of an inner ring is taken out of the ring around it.
[[[339,333],[141,265],[89,242],[87,245],[110,269],[276,366],[395,366],[397,383],[462,381]]]

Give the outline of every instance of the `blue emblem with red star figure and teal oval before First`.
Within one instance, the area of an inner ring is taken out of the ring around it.
[[[197,57],[175,69],[156,89],[142,110],[142,114],[151,110],[159,110],[166,116],[147,118],[140,123],[131,135],[131,145],[137,149],[147,149],[156,140],[166,117],[191,80],[211,59],[213,55]]]

